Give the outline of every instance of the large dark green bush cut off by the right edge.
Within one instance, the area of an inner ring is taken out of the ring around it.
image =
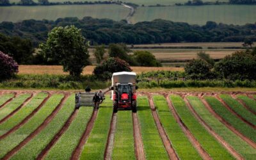
[[[231,80],[256,79],[256,56],[252,52],[235,52],[228,55],[214,66],[220,78]]]

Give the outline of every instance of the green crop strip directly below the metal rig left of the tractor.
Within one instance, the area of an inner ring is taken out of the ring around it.
[[[74,108],[74,105],[70,106],[70,108]],[[92,116],[92,111],[93,109],[88,107],[79,108],[76,118],[51,150],[49,150],[45,159],[70,159]]]

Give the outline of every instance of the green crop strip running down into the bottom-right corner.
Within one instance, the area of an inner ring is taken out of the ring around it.
[[[210,113],[205,105],[198,97],[188,97],[193,109],[205,121],[211,129],[219,134],[229,145],[231,145],[241,156],[245,159],[253,159],[256,156],[256,150],[248,145],[246,141],[230,131],[224,124],[222,124],[212,113]]]

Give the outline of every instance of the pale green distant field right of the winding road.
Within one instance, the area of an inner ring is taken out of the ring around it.
[[[255,15],[256,5],[139,7],[131,22],[166,19],[199,25],[204,25],[209,20],[225,24],[254,24]]]

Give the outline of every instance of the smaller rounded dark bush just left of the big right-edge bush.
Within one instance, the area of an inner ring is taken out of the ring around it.
[[[209,79],[211,65],[204,60],[191,60],[185,65],[186,77],[189,79]]]

